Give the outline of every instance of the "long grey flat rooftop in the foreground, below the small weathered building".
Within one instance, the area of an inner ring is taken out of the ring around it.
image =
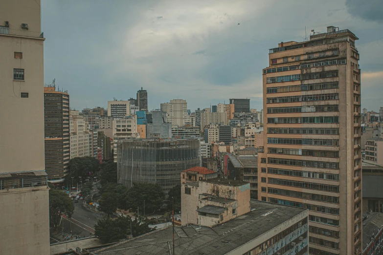
[[[251,211],[215,227],[175,227],[175,254],[224,255],[270,231],[304,209],[250,200]],[[94,255],[172,254],[172,227],[93,251]]]

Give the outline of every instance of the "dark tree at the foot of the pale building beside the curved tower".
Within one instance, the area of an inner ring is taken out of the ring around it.
[[[78,183],[81,179],[93,177],[100,170],[100,163],[93,157],[76,157],[69,160],[68,169],[69,174],[66,176],[68,182],[71,184],[73,177],[73,183]]]

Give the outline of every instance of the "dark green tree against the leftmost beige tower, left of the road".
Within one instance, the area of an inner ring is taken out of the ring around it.
[[[73,211],[72,199],[67,193],[55,189],[49,190],[49,222],[53,224],[55,229],[61,219],[61,213],[70,218]]]

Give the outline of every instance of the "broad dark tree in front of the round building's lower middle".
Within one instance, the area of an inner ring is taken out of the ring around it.
[[[165,197],[161,186],[154,183],[133,183],[133,187],[128,191],[126,200],[131,208],[139,208],[143,212],[144,201],[146,212],[158,210]]]

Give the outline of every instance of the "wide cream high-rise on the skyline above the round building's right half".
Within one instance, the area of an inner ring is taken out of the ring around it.
[[[170,100],[170,103],[162,103],[161,111],[166,112],[167,122],[172,126],[184,126],[185,120],[189,117],[187,113],[187,102],[182,99]]]

